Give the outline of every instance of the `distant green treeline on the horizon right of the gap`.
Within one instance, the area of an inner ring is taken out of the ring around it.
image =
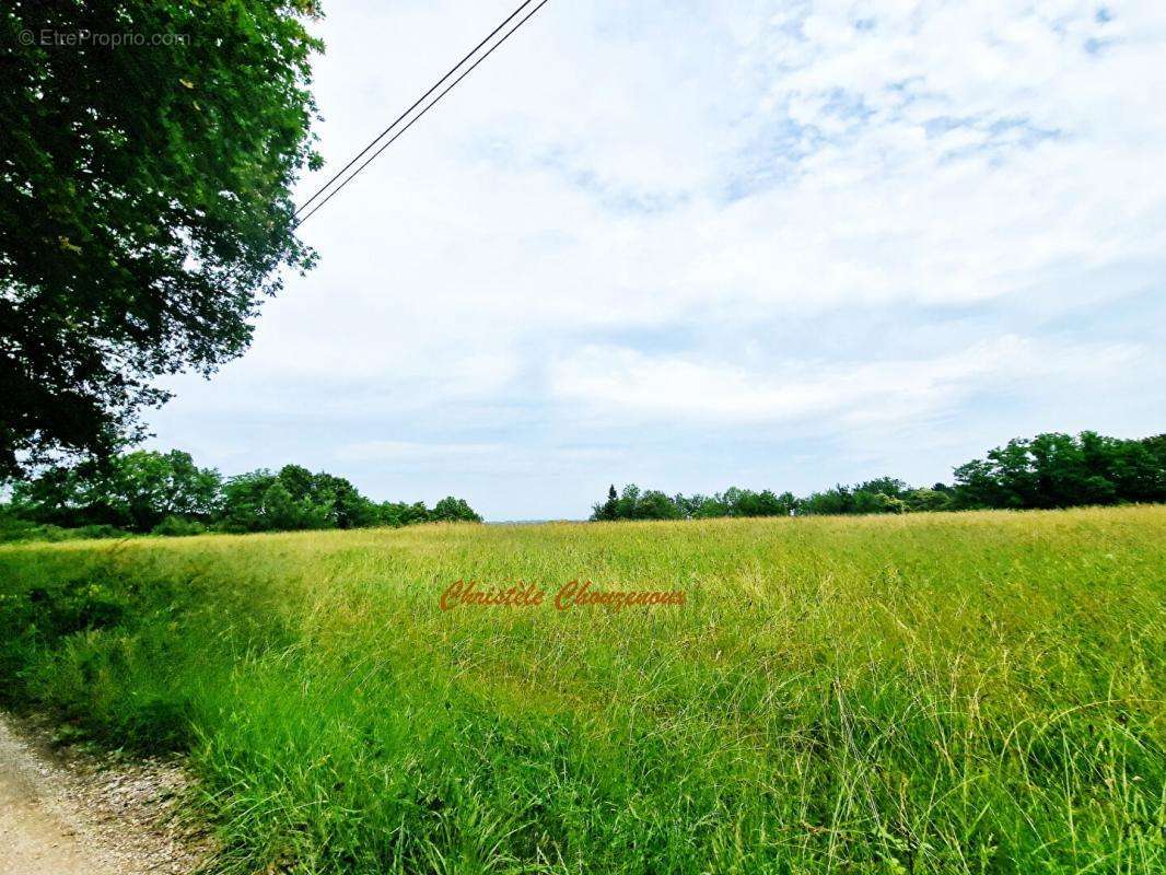
[[[1072,508],[1084,504],[1166,502],[1166,434],[1143,440],[1095,432],[1017,438],[984,459],[955,469],[954,483],[908,487],[879,477],[799,498],[792,492],[728,489],[711,496],[668,496],[632,484],[595,505],[592,520],[785,517],[822,513]]]

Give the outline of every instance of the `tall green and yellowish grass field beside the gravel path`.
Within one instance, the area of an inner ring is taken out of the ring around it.
[[[224,873],[1164,872],[1164,662],[1163,506],[0,548],[0,696]]]

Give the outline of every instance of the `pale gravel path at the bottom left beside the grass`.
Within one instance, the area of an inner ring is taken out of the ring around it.
[[[205,835],[175,818],[189,782],[173,762],[51,749],[43,727],[0,714],[0,875],[191,873]]]

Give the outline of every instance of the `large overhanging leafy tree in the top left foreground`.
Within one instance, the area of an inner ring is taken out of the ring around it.
[[[243,352],[318,161],[311,0],[0,10],[0,477],[141,430],[154,383]]]

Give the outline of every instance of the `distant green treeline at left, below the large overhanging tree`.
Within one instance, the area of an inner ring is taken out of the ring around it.
[[[188,453],[136,450],[104,466],[50,468],[17,481],[0,518],[8,539],[117,536],[126,532],[198,534],[303,528],[361,528],[414,523],[480,523],[462,498],[373,502],[344,477],[288,464],[224,480],[198,468]]]

